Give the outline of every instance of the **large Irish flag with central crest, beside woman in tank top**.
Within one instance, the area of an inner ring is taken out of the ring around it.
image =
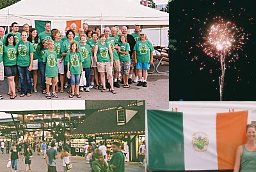
[[[233,169],[246,141],[248,111],[180,113],[147,110],[148,169]]]

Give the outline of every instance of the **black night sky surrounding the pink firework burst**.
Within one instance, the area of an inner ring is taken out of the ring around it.
[[[243,29],[243,50],[226,58],[222,101],[256,100],[256,11],[252,0],[174,0],[170,4],[170,101],[220,101],[219,58],[205,54],[207,30],[221,17]],[[248,39],[247,39],[248,38]],[[175,42],[177,41],[177,42]],[[237,58],[230,61],[234,55]]]

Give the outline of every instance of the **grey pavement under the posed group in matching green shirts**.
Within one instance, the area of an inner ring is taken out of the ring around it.
[[[155,62],[157,64],[158,61]],[[169,66],[161,66],[159,70],[168,71]],[[134,77],[133,77],[134,78]],[[40,78],[38,78],[39,82]],[[148,87],[138,87],[136,83],[131,85],[131,88],[124,89],[123,87],[115,88],[117,94],[111,94],[111,92],[102,93],[100,90],[91,89],[90,92],[80,92],[82,98],[86,100],[145,100],[147,109],[168,109],[169,102],[169,73],[153,73],[148,75]],[[8,84],[7,78],[4,78],[3,82],[0,82],[0,93],[4,96],[4,100],[10,100],[10,96],[7,95]],[[58,100],[67,100],[67,89],[64,93],[58,93]],[[33,92],[31,97],[19,97],[19,93],[15,100],[45,100],[46,97],[41,93],[40,86],[38,85],[38,92]],[[72,99],[78,99],[74,97]],[[70,100],[72,100],[70,99]]]

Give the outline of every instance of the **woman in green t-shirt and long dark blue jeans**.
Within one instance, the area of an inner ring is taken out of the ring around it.
[[[24,97],[25,94],[31,96],[31,74],[33,66],[33,44],[27,41],[28,34],[26,31],[21,32],[21,41],[18,45],[18,57],[17,67],[20,75],[21,94],[20,97]]]

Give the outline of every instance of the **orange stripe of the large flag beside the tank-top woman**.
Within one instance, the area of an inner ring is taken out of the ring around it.
[[[236,149],[246,141],[248,111],[217,113],[216,140],[219,169],[233,169]]]

